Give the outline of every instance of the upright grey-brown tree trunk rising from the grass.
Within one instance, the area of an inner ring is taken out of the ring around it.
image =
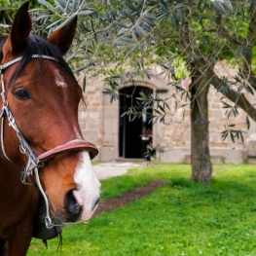
[[[212,165],[208,147],[208,103],[209,84],[201,72],[192,76],[191,91],[191,178],[196,182],[209,185]]]

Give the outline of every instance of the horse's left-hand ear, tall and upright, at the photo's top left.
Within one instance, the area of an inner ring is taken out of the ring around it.
[[[12,54],[19,54],[24,49],[32,29],[32,21],[27,12],[28,5],[29,2],[25,2],[18,9],[11,32],[4,47],[6,53],[11,52]]]

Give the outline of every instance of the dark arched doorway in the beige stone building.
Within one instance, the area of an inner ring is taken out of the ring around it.
[[[119,157],[128,159],[142,159],[147,145],[152,142],[152,123],[143,115],[129,122],[128,116],[121,117],[128,108],[134,106],[136,97],[140,92],[153,93],[146,87],[127,87],[120,91],[120,116],[119,116]],[[148,110],[149,112],[152,110]]]

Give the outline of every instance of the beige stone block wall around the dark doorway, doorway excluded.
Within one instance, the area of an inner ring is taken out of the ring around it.
[[[221,64],[217,66],[220,76],[223,68],[226,68],[226,66]],[[170,86],[166,86],[167,81],[157,76],[158,68],[154,69],[154,72],[151,74],[150,80],[139,81],[138,84],[153,89],[154,93],[160,91],[159,95],[163,98],[175,93],[176,100],[179,101],[178,92]],[[231,69],[231,76],[234,75],[232,72],[236,71]],[[79,120],[85,139],[94,143],[99,149],[99,155],[96,160],[116,161],[119,159],[119,101],[110,103],[110,97],[103,95],[102,91],[106,85],[102,81],[103,78],[88,79],[85,93],[87,106],[81,104]],[[164,91],[166,89],[167,91]],[[241,140],[233,143],[230,139],[223,141],[221,132],[228,124],[225,115],[226,109],[223,108],[223,103],[220,101],[221,97],[222,94],[220,92],[217,92],[212,87],[210,88],[208,93],[208,116],[210,122],[209,147],[211,160],[213,163],[242,163],[246,157],[246,145],[252,145],[250,142],[254,138],[256,141],[256,134],[252,130],[245,133],[244,139],[246,143]],[[153,127],[154,146],[165,149],[165,154],[161,156],[161,161],[188,163],[190,162],[191,146],[189,102],[183,101],[179,103],[180,107],[176,111],[175,98],[171,97],[167,102],[170,106],[170,111],[165,124],[158,122]],[[183,104],[186,105],[181,106]],[[241,110],[239,110],[239,113],[240,115],[236,119],[237,127],[246,130],[246,114]],[[252,127],[255,128],[254,123],[251,123]]]

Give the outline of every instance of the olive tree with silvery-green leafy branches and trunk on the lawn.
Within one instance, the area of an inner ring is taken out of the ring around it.
[[[254,93],[255,76],[252,69],[256,38],[256,1],[232,0],[119,0],[86,2],[76,0],[39,0],[42,11],[31,12],[38,21],[37,31],[47,33],[79,17],[77,45],[68,57],[75,72],[106,72],[102,63],[116,62],[133,66],[134,72],[113,73],[106,81],[111,99],[119,97],[121,83],[149,76],[149,59],[162,65],[170,85],[190,99],[192,179],[210,184],[212,165],[208,148],[207,93],[210,86],[223,93],[227,108],[228,127],[223,139],[242,139],[234,117],[242,109],[256,120],[256,109],[244,91]],[[113,47],[114,46],[114,47]],[[153,58],[154,56],[154,58]],[[177,59],[186,63],[187,75],[177,66]],[[218,77],[217,61],[227,59],[238,66],[234,81]],[[76,62],[83,66],[76,68]],[[136,67],[136,69],[135,69]],[[189,74],[189,75],[188,75]],[[191,78],[189,91],[180,86]],[[84,80],[84,86],[86,80]],[[227,100],[229,99],[229,100]],[[165,122],[168,106],[164,99],[141,95],[140,108],[133,106],[127,114],[131,119],[141,116],[148,106],[154,109],[152,119]],[[233,102],[233,103],[231,103]],[[249,119],[247,119],[249,127]],[[155,154],[151,148],[149,155]]]

